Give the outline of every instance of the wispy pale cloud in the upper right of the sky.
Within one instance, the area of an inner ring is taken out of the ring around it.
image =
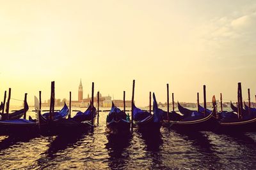
[[[200,25],[196,30],[198,45],[214,57],[253,55],[255,28],[256,3]]]

